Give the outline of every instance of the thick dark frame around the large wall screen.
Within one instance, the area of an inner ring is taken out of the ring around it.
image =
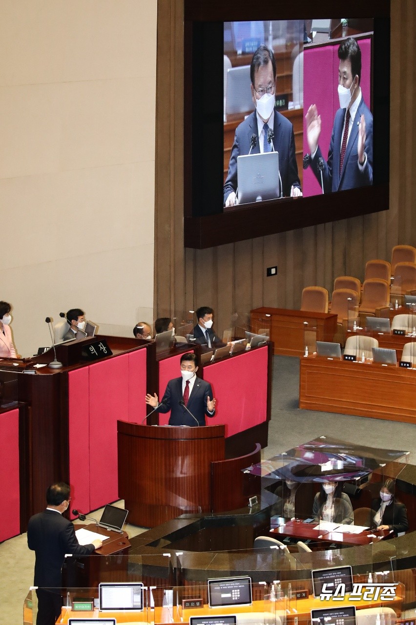
[[[284,198],[257,202],[246,205],[244,209],[222,212],[215,206],[213,214],[198,214],[197,202],[193,202],[192,166],[196,156],[192,155],[192,142],[197,146],[193,112],[197,101],[192,101],[194,74],[192,68],[197,65],[197,57],[192,47],[195,32],[204,22],[215,21],[250,21],[255,19],[308,19],[334,14],[334,5],[329,0],[322,0],[310,16],[310,2],[299,0],[295,6],[256,7],[247,0],[229,0],[222,4],[213,0],[209,4],[202,0],[184,0],[184,246],[204,249],[277,232],[289,231],[299,227],[309,227],[330,221],[339,221],[348,217],[369,214],[389,209],[389,136],[390,93],[385,93],[385,86],[390,86],[390,0],[368,0],[357,3],[349,10],[355,17],[374,18],[372,56],[374,59],[372,81],[374,85],[372,102],[373,111],[377,111],[378,133],[374,133],[374,153],[382,151],[383,171],[387,171],[385,183],[369,187],[349,189],[334,193],[305,198]],[[222,54],[222,51],[221,51]],[[220,77],[222,81],[222,76]],[[197,96],[200,97],[200,96]],[[196,98],[197,99],[197,98]],[[380,131],[380,128],[383,128]],[[381,136],[380,136],[381,135]],[[222,163],[221,163],[222,171]],[[202,189],[201,189],[201,192]],[[334,199],[337,210],[334,215]],[[293,202],[297,202],[294,210]],[[193,206],[194,204],[194,206]],[[299,210],[298,210],[299,207]]]

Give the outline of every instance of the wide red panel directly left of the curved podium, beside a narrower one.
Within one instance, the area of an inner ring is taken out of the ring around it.
[[[129,414],[129,354],[89,366],[90,502],[118,499],[117,419]]]

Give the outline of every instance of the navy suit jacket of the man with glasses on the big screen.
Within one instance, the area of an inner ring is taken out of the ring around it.
[[[258,132],[259,128],[255,111],[237,126],[228,166],[228,176],[224,184],[224,204],[230,192],[237,191],[237,156],[249,153],[252,134],[255,134],[257,137],[257,145],[252,149],[251,153],[260,153]],[[273,132],[274,149],[276,152],[279,152],[279,170],[280,178],[282,178],[283,194],[284,196],[290,196],[292,185],[300,188],[299,176],[297,175],[295,136],[292,123],[282,114],[277,113],[277,111],[274,111]]]

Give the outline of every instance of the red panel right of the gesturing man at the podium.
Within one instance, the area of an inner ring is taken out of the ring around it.
[[[267,347],[259,347],[204,368],[217,399],[207,425],[225,424],[225,437],[262,423],[267,410]],[[255,441],[254,441],[255,442]]]

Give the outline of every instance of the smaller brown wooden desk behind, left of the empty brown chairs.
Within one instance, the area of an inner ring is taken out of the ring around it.
[[[269,317],[266,317],[269,315]],[[250,311],[253,332],[270,323],[270,341],[274,342],[274,353],[281,356],[303,356],[305,351],[305,322],[307,331],[316,327],[317,341],[332,341],[337,331],[337,315],[323,312],[294,311],[287,308],[255,308]]]

